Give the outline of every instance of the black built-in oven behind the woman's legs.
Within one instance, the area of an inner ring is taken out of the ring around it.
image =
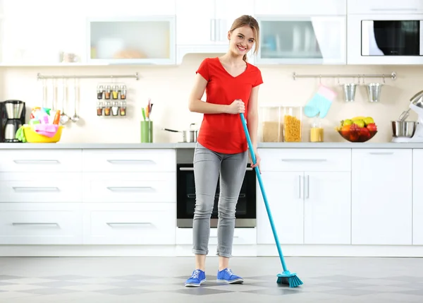
[[[192,163],[177,165],[176,191],[176,224],[178,227],[192,227],[196,200],[194,167]],[[211,227],[217,227],[219,191],[218,180],[210,221]],[[256,174],[249,164],[246,167],[243,186],[241,187],[235,210],[235,227],[256,227],[256,219]]]

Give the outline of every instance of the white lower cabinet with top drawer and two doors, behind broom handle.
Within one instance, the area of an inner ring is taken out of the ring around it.
[[[350,150],[260,149],[259,153],[281,243],[350,244]],[[257,243],[274,243],[259,189]]]

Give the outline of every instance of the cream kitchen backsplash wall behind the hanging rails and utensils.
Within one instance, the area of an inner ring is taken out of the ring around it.
[[[188,96],[192,88],[195,71],[204,57],[216,57],[216,54],[192,54],[185,57],[180,66],[75,66],[75,67],[14,67],[0,69],[0,99],[23,100],[30,107],[41,105],[42,81],[37,80],[37,73],[42,75],[114,75],[135,74],[135,78],[121,79],[80,79],[80,102],[77,113],[78,123],[66,124],[61,143],[139,143],[142,107],[148,99],[154,104],[151,119],[154,123],[154,142],[178,142],[182,133],[171,133],[161,129],[188,129],[191,123],[200,125],[201,114],[188,111]],[[343,138],[334,130],[342,119],[355,116],[372,116],[379,126],[379,133],[369,142],[391,141],[391,120],[399,117],[412,95],[423,89],[421,66],[269,66],[260,67],[264,84],[259,90],[259,104],[305,106],[317,91],[319,78],[293,79],[293,72],[298,74],[390,74],[397,73],[397,79],[385,79],[381,90],[381,102],[370,103],[364,85],[357,88],[355,102],[345,102],[339,83],[356,82],[357,78],[321,78],[321,83],[333,88],[338,96],[333,101],[329,114],[322,119],[324,141],[343,142]],[[73,85],[73,80],[69,81]],[[383,78],[364,78],[365,83],[383,83]],[[97,85],[126,85],[127,116],[97,117]],[[360,78],[360,83],[363,79]],[[60,96],[60,93],[59,93]],[[73,114],[73,93],[66,105],[66,114]],[[48,99],[51,100],[49,91]],[[49,101],[50,102],[50,101]],[[51,104],[51,103],[49,103]],[[58,108],[61,109],[59,100]],[[416,119],[414,113],[409,119]],[[309,141],[309,127],[312,119],[303,116],[303,138]]]

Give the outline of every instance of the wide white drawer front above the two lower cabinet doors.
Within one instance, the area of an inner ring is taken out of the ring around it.
[[[349,172],[348,148],[259,148],[262,172]]]

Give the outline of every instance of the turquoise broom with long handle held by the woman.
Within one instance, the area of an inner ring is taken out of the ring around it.
[[[240,116],[241,116],[241,121],[243,121],[245,136],[247,137],[248,148],[250,148],[250,154],[251,154],[252,162],[255,164],[256,158],[255,158],[254,150],[252,148],[250,134],[248,133],[247,124],[245,123],[245,117],[244,117],[243,113],[241,113]],[[278,234],[276,234],[276,228],[275,228],[275,225],[274,225],[274,220],[273,220],[271,213],[270,213],[269,203],[267,202],[267,196],[266,196],[266,192],[264,191],[262,176],[260,175],[259,167],[257,167],[257,166],[255,167],[255,172],[256,172],[256,175],[257,175],[257,179],[259,180],[260,189],[262,190],[264,205],[266,206],[267,215],[269,216],[269,221],[270,221],[270,225],[271,225],[271,230],[273,231],[273,234],[274,234],[276,246],[278,248],[279,258],[281,259],[282,268],[283,268],[283,273],[277,274],[278,280],[276,280],[276,283],[286,284],[286,285],[289,285],[289,287],[298,287],[298,286],[302,285],[302,281],[300,280],[300,278],[297,277],[296,273],[291,273],[290,271],[288,271],[288,269],[286,269],[286,264],[285,264],[285,260],[283,259],[281,244],[279,243]]]

